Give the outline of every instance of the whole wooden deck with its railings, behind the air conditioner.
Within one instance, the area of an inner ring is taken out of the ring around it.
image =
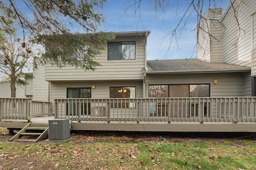
[[[25,115],[21,117],[13,114],[13,108],[7,109],[6,107],[13,104],[7,104],[6,101],[0,99],[0,111],[10,114],[0,113],[0,127],[12,129],[21,129],[30,121],[40,124],[48,123],[49,119],[70,118],[73,130],[256,132],[256,98],[252,97],[57,99],[54,110],[58,111],[54,116],[27,116],[27,119],[24,119]],[[36,107],[39,108],[37,110],[43,111],[45,109],[42,109],[41,104],[43,103],[37,102]],[[29,110],[36,110],[32,106]],[[50,112],[47,115],[50,115]]]

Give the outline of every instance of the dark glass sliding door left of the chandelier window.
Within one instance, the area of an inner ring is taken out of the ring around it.
[[[67,98],[91,98],[91,88],[67,88]],[[67,105],[67,114],[78,115],[80,108],[81,115],[90,115],[90,103],[69,103]]]

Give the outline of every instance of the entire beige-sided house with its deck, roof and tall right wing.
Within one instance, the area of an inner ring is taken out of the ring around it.
[[[256,2],[245,3],[239,25],[231,5],[206,12],[200,24],[210,34],[199,31],[196,59],[147,61],[150,31],[115,32],[94,71],[35,70],[33,99],[50,101],[50,114],[75,130],[255,132]]]

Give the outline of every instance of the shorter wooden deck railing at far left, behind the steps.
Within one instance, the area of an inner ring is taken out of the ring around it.
[[[31,120],[50,114],[50,102],[34,102],[28,98],[0,98],[0,119]]]

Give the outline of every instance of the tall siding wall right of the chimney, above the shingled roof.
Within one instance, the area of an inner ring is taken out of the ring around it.
[[[241,3],[234,0],[233,6],[236,10],[236,21],[234,10],[230,5],[222,18],[223,27],[223,62],[251,66],[251,43],[252,43],[252,17],[255,12],[254,0],[246,0]]]

